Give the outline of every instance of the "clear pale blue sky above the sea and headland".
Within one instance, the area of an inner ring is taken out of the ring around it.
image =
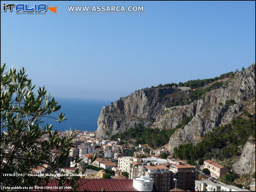
[[[3,12],[1,64],[27,68],[55,97],[117,100],[158,84],[204,79],[255,62],[255,1],[57,2],[57,15]],[[67,6],[143,6],[68,12]]]

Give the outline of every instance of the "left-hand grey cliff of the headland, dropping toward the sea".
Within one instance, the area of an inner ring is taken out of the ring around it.
[[[172,106],[177,97],[183,99],[185,95],[186,92],[171,87],[145,88],[133,92],[102,108],[96,136],[106,138],[138,123],[146,127],[153,125],[161,119],[165,107]]]

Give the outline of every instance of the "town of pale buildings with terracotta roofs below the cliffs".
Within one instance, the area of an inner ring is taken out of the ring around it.
[[[65,134],[66,132],[59,132],[59,137],[64,137]],[[221,183],[218,179],[226,175],[228,169],[211,160],[192,166],[179,159],[168,158],[168,148],[154,150],[147,145],[123,144],[120,139],[98,139],[95,138],[95,134],[96,132],[75,130],[67,166],[59,168],[56,174],[52,175],[53,180],[57,179],[57,174],[63,172],[74,173],[76,167],[80,167],[80,163],[73,159],[79,156],[84,163],[89,164],[89,169],[85,174],[81,174],[79,180],[85,189],[94,186],[96,182],[104,190],[111,190],[111,181],[115,181],[117,186],[124,185],[123,182],[128,185],[119,188],[119,191],[249,191]],[[47,137],[48,135],[44,135],[41,139]],[[97,158],[92,162],[92,156],[95,154]],[[33,168],[31,174],[44,176],[47,174],[47,168],[47,164],[41,164]],[[210,174],[204,174],[203,169],[208,169]],[[83,180],[89,183],[83,184]],[[102,180],[105,184],[102,184]],[[255,190],[255,183],[251,190]]]

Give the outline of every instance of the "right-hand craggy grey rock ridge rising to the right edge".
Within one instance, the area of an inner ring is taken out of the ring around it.
[[[171,136],[169,141],[171,153],[180,144],[199,142],[202,136],[213,128],[230,123],[232,119],[243,113],[242,103],[244,105],[252,98],[255,107],[255,64],[241,71],[227,85],[207,92],[197,101],[196,114],[191,122]],[[236,104],[224,105],[225,101],[230,99],[234,99]]]

